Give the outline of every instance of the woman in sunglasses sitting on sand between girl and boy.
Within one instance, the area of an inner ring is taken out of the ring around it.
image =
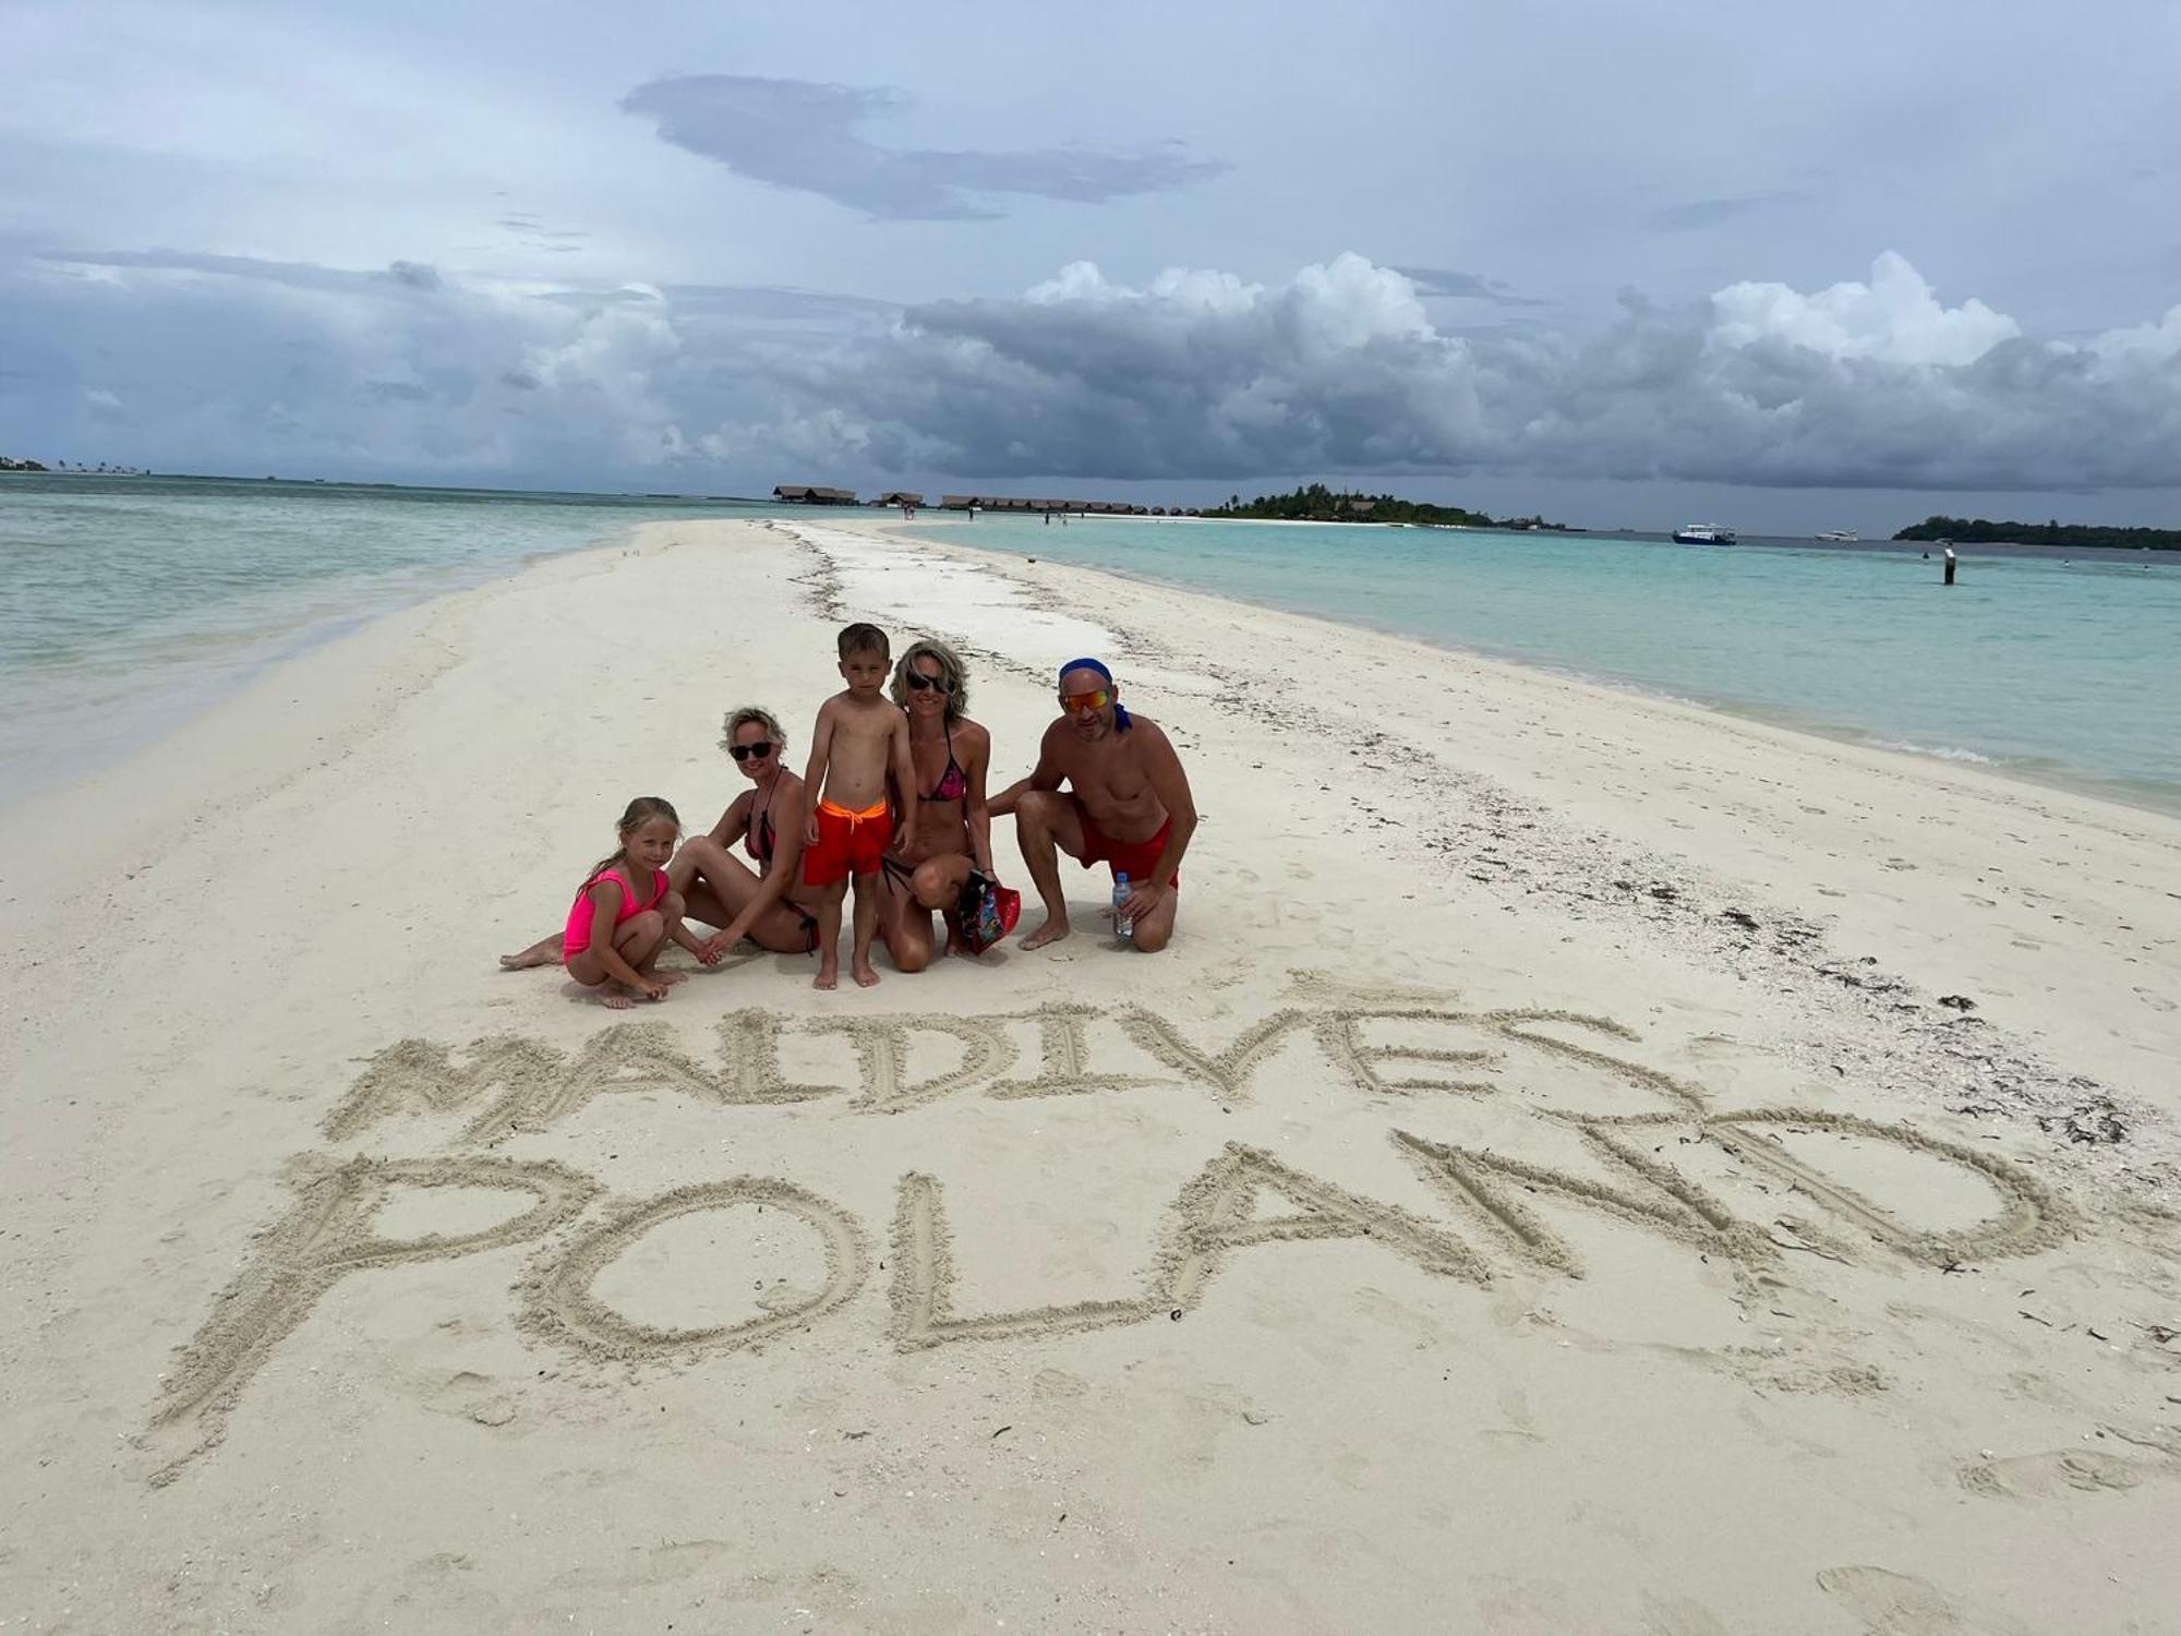
[[[683,842],[667,864],[667,883],[683,897],[683,918],[722,927],[698,945],[698,958],[711,964],[742,938],[774,953],[809,953],[818,947],[818,921],[800,901],[803,779],[783,763],[787,735],[772,711],[744,705],[726,718],[720,748],[735,757],[752,787],[735,796],[711,833]],[[735,842],[755,870],[735,857]],[[502,955],[499,964],[513,971],[556,960],[558,931],[519,955]]]

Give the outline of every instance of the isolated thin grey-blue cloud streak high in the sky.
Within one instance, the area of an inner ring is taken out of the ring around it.
[[[881,220],[977,220],[1001,216],[990,194],[1106,203],[1162,192],[1228,170],[1191,159],[1178,144],[1147,153],[1040,148],[977,153],[881,148],[857,135],[870,118],[907,105],[894,89],[792,79],[683,74],[622,98],[626,113],[656,120],[659,135],[728,170],[820,194]]]

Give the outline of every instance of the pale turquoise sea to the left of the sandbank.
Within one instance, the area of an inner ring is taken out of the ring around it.
[[[0,476],[0,801],[172,729],[390,609],[663,517],[776,506],[216,478]]]

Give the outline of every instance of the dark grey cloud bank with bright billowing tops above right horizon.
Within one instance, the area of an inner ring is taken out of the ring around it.
[[[2181,312],[2087,347],[1941,308],[1900,257],[1869,286],[1627,299],[1588,342],[1455,338],[1391,268],[1213,275],[912,308],[814,358],[840,454],[964,476],[1267,471],[1677,478],[1756,486],[2087,489],[2181,476]]]

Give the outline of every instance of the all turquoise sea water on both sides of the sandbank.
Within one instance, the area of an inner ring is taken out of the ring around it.
[[[781,508],[0,476],[0,798],[388,609],[641,521],[724,515]],[[1156,519],[936,532],[2181,811],[2181,561],[2164,554],[1978,550],[1948,591],[1915,548]]]

